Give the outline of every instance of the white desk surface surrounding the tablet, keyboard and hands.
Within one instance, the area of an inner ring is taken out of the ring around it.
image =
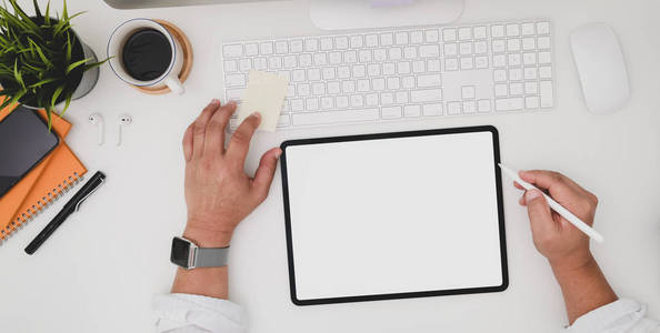
[[[28,256],[23,248],[68,198],[0,246],[0,331],[150,332],[151,296],[169,291],[174,273],[170,240],[186,222],[180,141],[200,109],[221,95],[220,44],[320,31],[303,0],[129,11],[101,0],[68,2],[70,11],[89,11],[76,27],[99,56],[106,53],[110,32],[120,22],[160,18],[189,36],[194,68],[184,95],[153,97],[127,87],[106,65],[97,88],[71,105],[67,119],[74,127],[67,141],[90,172],[107,172],[108,183],[36,255]],[[493,124],[500,130],[502,160],[508,164],[561,170],[598,194],[596,228],[606,242],[592,245],[594,255],[620,296],[647,302],[649,314],[660,319],[660,3],[466,2],[459,22],[552,20],[554,111],[259,134],[248,169],[254,170],[266,149],[288,138]],[[617,30],[632,87],[626,110],[607,117],[586,110],[569,48],[570,32],[594,21]],[[87,122],[91,112],[106,118],[103,147],[96,144],[97,130]],[[133,123],[118,148],[112,144],[116,120],[123,112],[133,117]],[[534,250],[518,196],[516,189],[504,186],[511,281],[506,292],[298,307],[289,300],[278,174],[268,200],[236,232],[231,300],[247,310],[250,332],[557,332],[567,323],[561,293]]]

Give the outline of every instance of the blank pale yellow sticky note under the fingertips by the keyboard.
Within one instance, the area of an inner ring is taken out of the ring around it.
[[[259,112],[261,124],[258,130],[274,132],[288,87],[289,80],[286,78],[268,72],[250,71],[248,88],[238,108],[239,123],[253,112]]]

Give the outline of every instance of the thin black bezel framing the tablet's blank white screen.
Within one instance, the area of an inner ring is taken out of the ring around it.
[[[502,270],[502,284],[501,285],[454,289],[454,290],[377,294],[377,295],[356,295],[356,296],[328,297],[328,299],[314,299],[314,300],[299,300],[298,299],[298,296],[296,294],[296,274],[294,274],[296,271],[294,271],[294,265],[293,265],[291,214],[290,214],[290,206],[289,206],[290,205],[290,203],[289,203],[289,185],[288,185],[288,176],[287,176],[287,148],[293,147],[293,145],[336,143],[336,142],[346,142],[346,141],[366,141],[366,140],[458,134],[458,133],[474,133],[474,132],[490,132],[492,134],[493,159],[494,159],[494,164],[492,165],[492,168],[493,168],[493,172],[496,174],[496,188],[497,188],[496,191],[497,191],[497,200],[498,200],[498,221],[499,221],[499,231],[500,231],[500,258],[501,258],[501,270]],[[507,240],[506,240],[507,238],[506,238],[506,232],[504,232],[504,206],[503,206],[503,199],[502,199],[503,198],[502,196],[502,175],[501,175],[500,168],[498,167],[498,164],[500,163],[500,145],[499,145],[499,133],[494,127],[482,125],[482,127],[452,128],[452,129],[438,129],[438,130],[423,130],[423,131],[409,131],[409,132],[390,132],[390,133],[377,133],[377,134],[289,140],[289,141],[282,142],[280,148],[282,149],[282,157],[280,159],[280,164],[281,164],[282,194],[283,194],[283,204],[284,204],[284,224],[286,224],[286,233],[287,233],[287,256],[288,256],[288,263],[289,263],[289,287],[290,287],[290,293],[291,293],[291,301],[293,302],[293,304],[296,304],[296,305],[318,305],[318,304],[381,301],[381,300],[396,300],[396,299],[410,299],[410,297],[429,297],[429,296],[457,295],[457,294],[491,293],[491,292],[504,291],[509,286],[509,270],[508,270],[508,264],[507,264]]]

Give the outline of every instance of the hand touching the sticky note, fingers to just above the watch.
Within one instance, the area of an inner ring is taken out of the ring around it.
[[[213,100],[183,135],[188,204],[183,236],[204,248],[229,245],[234,228],[268,195],[281,154],[279,148],[268,151],[254,178],[246,174],[246,157],[261,118],[248,117],[226,148],[224,130],[234,111],[234,102],[220,105]]]

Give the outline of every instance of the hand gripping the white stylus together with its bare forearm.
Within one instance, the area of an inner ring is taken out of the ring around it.
[[[552,171],[523,171],[520,178],[546,191],[554,201],[593,225],[598,199],[567,176]],[[516,183],[520,190],[524,190]],[[520,204],[527,205],[534,245],[548,258],[561,286],[569,323],[617,300],[598,263],[589,251],[589,236],[550,210],[539,190],[526,191]]]

